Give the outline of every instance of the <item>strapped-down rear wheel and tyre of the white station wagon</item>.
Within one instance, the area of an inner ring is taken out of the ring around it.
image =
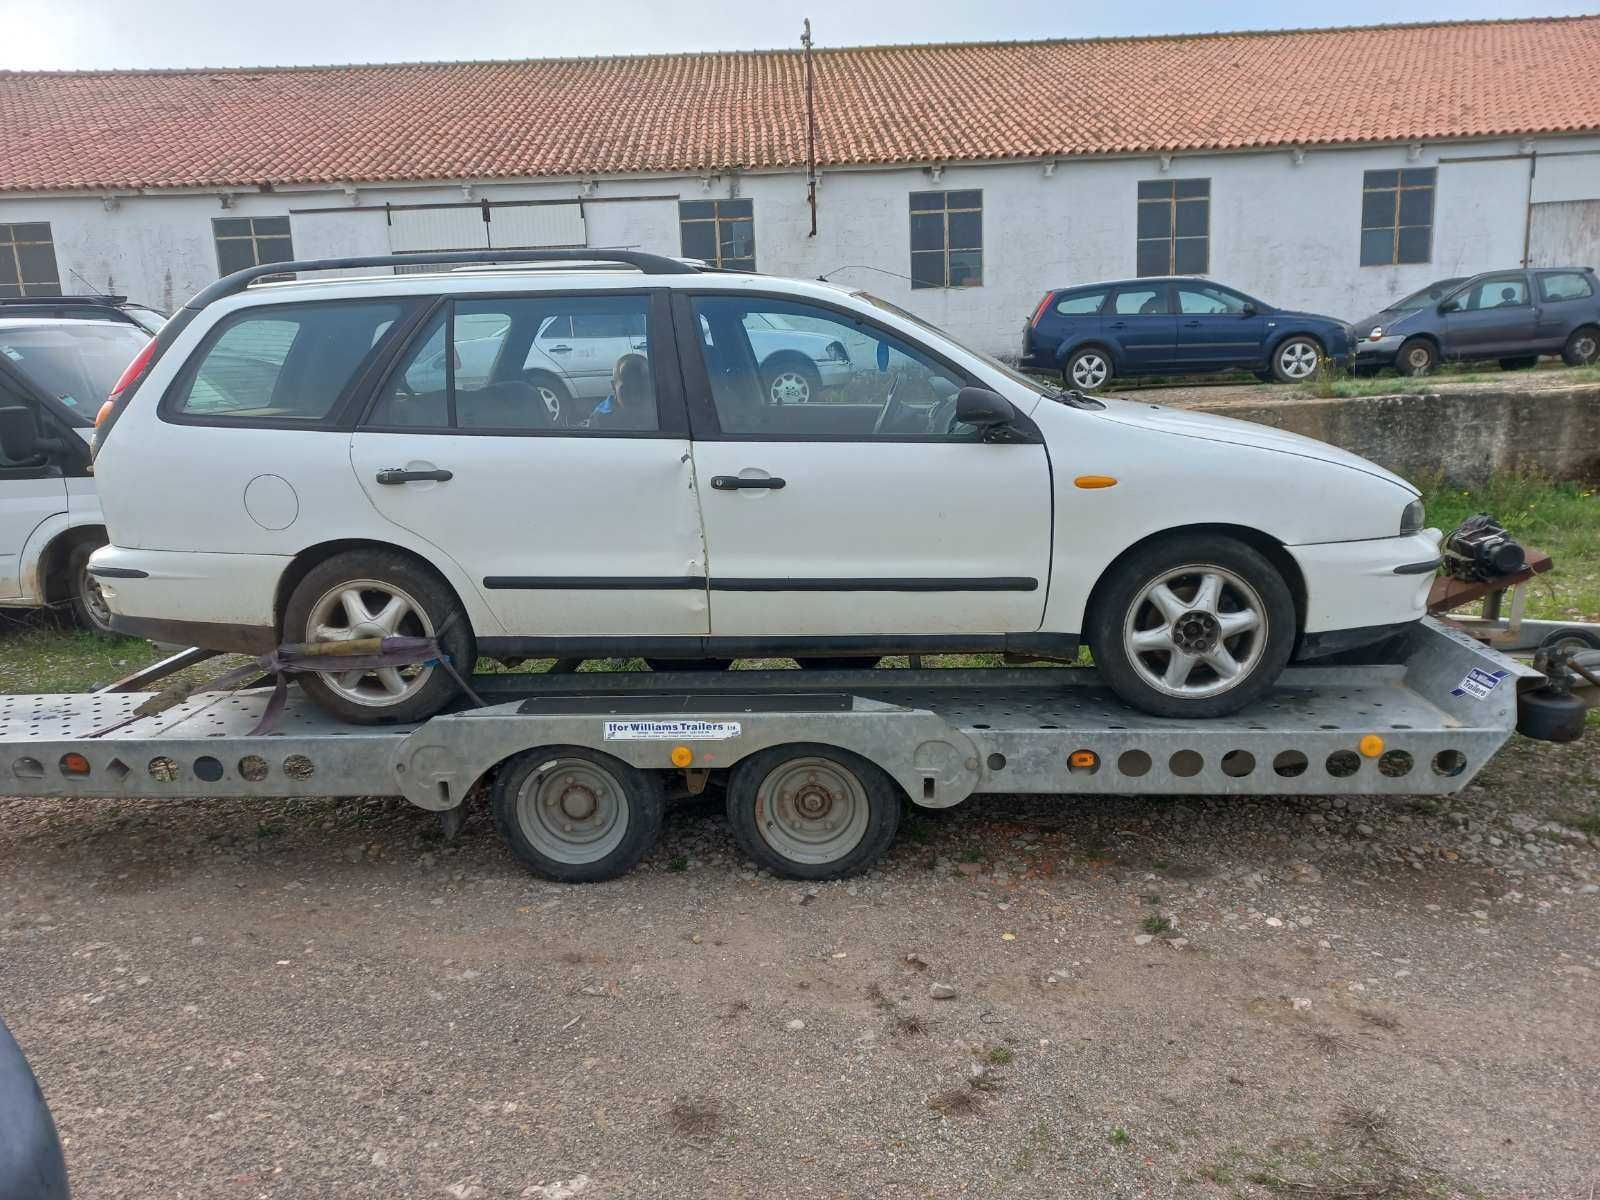
[[[469,675],[477,661],[477,642],[456,594],[419,562],[395,550],[350,550],[318,563],[283,610],[285,642],[395,635],[438,638],[461,675]],[[427,720],[459,691],[450,672],[437,664],[299,678],[320,709],[355,725]]]

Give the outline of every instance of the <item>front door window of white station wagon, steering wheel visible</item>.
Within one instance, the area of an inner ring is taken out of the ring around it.
[[[907,339],[821,306],[691,301],[723,434],[974,440],[955,421],[965,379]]]

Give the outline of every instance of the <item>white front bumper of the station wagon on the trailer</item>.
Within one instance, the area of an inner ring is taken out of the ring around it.
[[[1355,542],[1290,546],[1306,579],[1306,632],[1416,621],[1438,566],[1438,530]]]

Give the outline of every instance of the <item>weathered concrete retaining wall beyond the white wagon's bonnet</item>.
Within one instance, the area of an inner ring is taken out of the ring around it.
[[[1467,486],[1512,470],[1600,482],[1600,386],[1192,406],[1328,442],[1406,478]]]

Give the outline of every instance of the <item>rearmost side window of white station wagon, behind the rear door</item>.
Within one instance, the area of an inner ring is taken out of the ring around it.
[[[206,339],[168,411],[222,421],[323,421],[402,315],[398,301],[237,312]]]

